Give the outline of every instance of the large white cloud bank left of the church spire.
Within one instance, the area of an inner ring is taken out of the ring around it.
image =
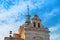
[[[26,10],[26,4],[25,3],[21,3],[19,5],[14,5],[11,6],[10,9],[6,10],[4,8],[2,8],[0,10],[0,22],[7,21],[8,24],[2,24],[0,25],[0,40],[3,40],[4,37],[9,36],[9,31],[13,30],[13,33],[18,31],[18,28],[21,24],[23,24],[24,20],[22,20],[21,22],[14,22],[14,20],[16,20],[17,16],[18,16],[18,12],[21,15],[24,15],[24,11]],[[12,18],[11,16],[15,16],[14,18]],[[21,18],[21,17],[20,17]]]

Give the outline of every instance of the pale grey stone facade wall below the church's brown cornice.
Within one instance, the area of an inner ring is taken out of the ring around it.
[[[46,32],[26,31],[25,40],[49,40],[49,34]],[[36,39],[34,39],[36,38]]]

